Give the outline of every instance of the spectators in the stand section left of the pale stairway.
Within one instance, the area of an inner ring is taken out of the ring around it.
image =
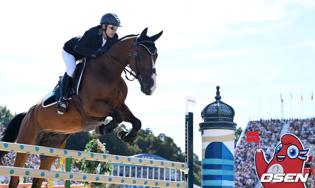
[[[243,130],[235,148],[235,187],[252,188],[257,183],[254,156],[258,149],[257,142],[246,142],[246,132],[259,132],[259,146],[264,150],[267,161],[270,160],[273,150],[268,147],[275,147],[280,141],[279,133],[283,123],[280,120],[249,121]]]

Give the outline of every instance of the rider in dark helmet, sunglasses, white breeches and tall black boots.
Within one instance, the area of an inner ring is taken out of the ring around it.
[[[60,100],[57,103],[58,114],[67,113],[67,93],[72,85],[76,61],[84,57],[96,57],[108,50],[108,47],[118,40],[116,33],[120,25],[119,17],[107,13],[100,19],[100,25],[87,30],[83,36],[77,36],[65,43],[62,58],[66,64],[66,73],[60,83]]]

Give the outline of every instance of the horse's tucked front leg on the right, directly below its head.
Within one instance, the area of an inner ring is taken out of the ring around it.
[[[132,114],[127,105],[122,104],[118,109],[123,113],[123,121],[132,124],[132,129],[129,132],[119,131],[117,136],[124,142],[132,143],[137,135],[137,132],[141,129],[141,121]]]

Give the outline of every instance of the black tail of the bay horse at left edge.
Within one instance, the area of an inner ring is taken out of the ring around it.
[[[27,112],[22,112],[18,115],[15,115],[12,120],[10,120],[7,128],[1,133],[2,142],[11,142],[14,143],[18,138],[20,126]],[[8,154],[9,151],[0,151],[0,165],[4,166],[4,156]]]

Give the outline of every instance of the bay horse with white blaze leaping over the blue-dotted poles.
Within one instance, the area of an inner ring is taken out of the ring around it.
[[[120,131],[117,136],[124,142],[132,143],[141,128],[137,119],[125,104],[127,85],[121,77],[126,66],[133,71],[140,83],[140,89],[146,95],[151,95],[156,87],[155,61],[157,59],[156,41],[163,33],[149,37],[147,29],[140,35],[128,35],[119,39],[107,53],[89,59],[83,70],[78,89],[78,98],[82,100],[85,115],[95,118],[110,116],[108,124],[98,125],[95,132],[99,135],[113,132],[123,121],[130,122],[129,132]],[[55,105],[44,108],[44,99],[33,105],[26,113],[20,113],[9,122],[2,133],[1,141],[19,144],[38,145],[64,149],[66,139],[75,132],[83,131],[83,115],[76,108],[73,100],[68,100],[68,113],[60,115]],[[93,130],[93,129],[92,129]],[[4,165],[3,157],[8,152],[0,151],[0,163]],[[14,167],[23,167],[30,156],[27,153],[17,153]],[[49,170],[58,157],[40,155],[39,169]],[[43,178],[34,178],[32,188],[40,188]],[[9,187],[15,188],[19,183],[18,176],[11,176]]]

